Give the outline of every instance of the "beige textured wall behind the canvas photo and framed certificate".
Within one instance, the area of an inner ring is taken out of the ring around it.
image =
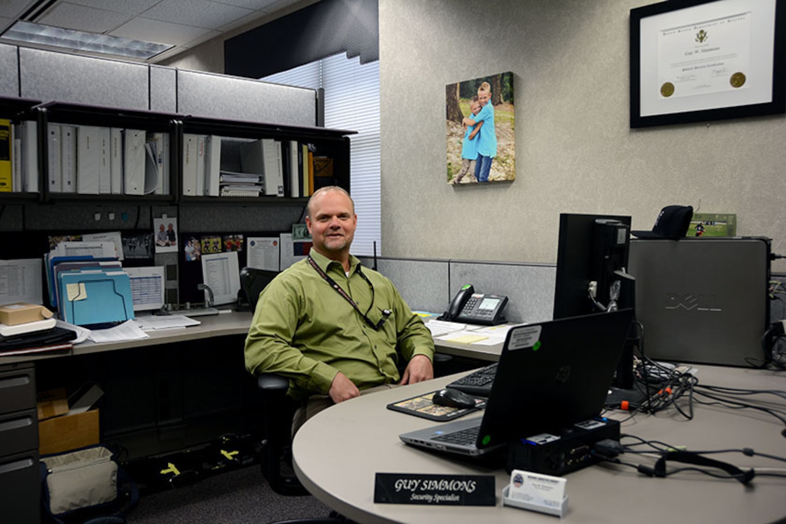
[[[630,9],[648,3],[380,0],[385,255],[554,263],[560,212],[650,229],[671,203],[736,213],[737,234],[786,251],[784,115],[630,129]],[[516,181],[447,185],[445,86],[505,71]]]

